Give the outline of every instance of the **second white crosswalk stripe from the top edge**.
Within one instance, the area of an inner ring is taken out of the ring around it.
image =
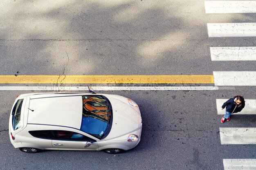
[[[209,37],[255,37],[256,23],[208,23]]]

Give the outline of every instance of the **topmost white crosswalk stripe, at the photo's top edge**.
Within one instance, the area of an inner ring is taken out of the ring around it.
[[[255,13],[255,0],[204,1],[206,13]]]

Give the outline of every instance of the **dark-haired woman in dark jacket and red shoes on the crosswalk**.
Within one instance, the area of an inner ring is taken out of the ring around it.
[[[223,110],[226,107],[226,114],[221,118],[221,123],[224,123],[225,119],[230,121],[230,115],[232,113],[238,113],[245,107],[245,99],[243,96],[234,96],[225,102],[221,109]]]

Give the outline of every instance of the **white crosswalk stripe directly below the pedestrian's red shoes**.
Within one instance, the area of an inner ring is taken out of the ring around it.
[[[256,128],[220,128],[220,143],[256,144]]]

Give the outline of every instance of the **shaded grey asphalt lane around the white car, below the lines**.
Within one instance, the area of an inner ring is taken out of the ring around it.
[[[5,91],[0,95],[0,169],[222,169],[222,159],[255,158],[255,146],[221,145],[219,127],[254,127],[256,117],[234,115],[230,122],[221,124],[216,98],[233,97],[231,93],[255,97],[248,91],[108,92],[135,100],[143,119],[139,145],[119,155],[100,151],[20,152],[13,148],[8,136],[10,109],[20,91]]]

